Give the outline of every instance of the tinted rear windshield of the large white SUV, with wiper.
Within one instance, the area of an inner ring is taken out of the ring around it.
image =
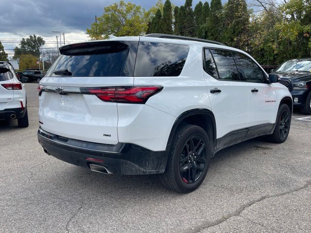
[[[136,50],[138,42],[134,44]],[[135,56],[130,52],[130,46],[119,41],[106,41],[98,43],[84,43],[64,47],[61,55],[49,69],[46,77],[72,76],[72,77],[111,77],[133,76]],[[132,55],[129,55],[132,54]],[[127,65],[126,65],[127,64]],[[68,70],[64,74],[56,75],[54,72]]]

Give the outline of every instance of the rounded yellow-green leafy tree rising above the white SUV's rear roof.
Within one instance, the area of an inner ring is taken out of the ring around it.
[[[149,14],[141,6],[121,0],[119,3],[104,7],[104,14],[98,17],[97,23],[92,23],[91,27],[86,29],[86,34],[91,39],[108,38],[110,34],[142,35],[148,29]]]

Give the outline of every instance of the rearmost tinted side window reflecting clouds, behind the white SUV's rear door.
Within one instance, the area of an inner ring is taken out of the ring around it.
[[[187,45],[140,41],[134,76],[179,76],[188,53]]]

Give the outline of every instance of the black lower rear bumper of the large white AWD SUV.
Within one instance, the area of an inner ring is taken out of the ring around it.
[[[44,151],[57,159],[88,169],[90,164],[104,166],[115,174],[163,173],[169,154],[167,150],[152,151],[130,143],[107,145],[64,138],[41,128],[37,136]]]

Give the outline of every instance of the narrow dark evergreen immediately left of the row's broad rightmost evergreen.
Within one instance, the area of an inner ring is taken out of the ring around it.
[[[209,40],[221,41],[222,39],[222,8],[221,0],[211,0],[207,19],[207,38]]]

